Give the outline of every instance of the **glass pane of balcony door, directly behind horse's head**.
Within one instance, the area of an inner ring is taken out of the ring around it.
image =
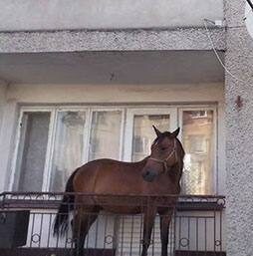
[[[134,116],[132,161],[141,160],[150,153],[151,143],[155,138],[152,125],[161,131],[169,130],[169,115]]]

